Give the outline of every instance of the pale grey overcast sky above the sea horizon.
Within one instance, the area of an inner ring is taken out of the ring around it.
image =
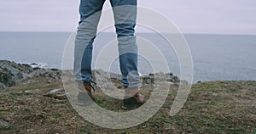
[[[256,34],[255,0],[138,0],[138,6],[166,15],[184,33]],[[0,0],[0,31],[74,31],[78,7],[79,0]]]

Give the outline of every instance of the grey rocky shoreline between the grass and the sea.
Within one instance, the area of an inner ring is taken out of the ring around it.
[[[61,80],[61,73],[68,72],[68,75],[73,75],[71,71],[58,70],[55,68],[41,68],[40,65],[36,63],[32,64],[19,64],[14,61],[9,60],[0,60],[0,89],[6,87],[12,87],[16,84],[20,84],[23,81],[28,79],[32,79],[34,77],[45,77],[47,82],[51,83],[52,81]],[[96,74],[99,74],[104,79],[109,79],[108,74],[110,75],[110,79],[114,79],[116,81],[121,81],[121,75],[115,74],[112,72],[106,72],[104,70],[92,70],[93,79]],[[173,75],[170,73],[151,73],[148,75],[141,75],[140,79],[144,84],[154,84],[154,81],[166,81],[170,84],[177,84],[179,82],[187,83],[186,81],[181,81],[177,77],[177,75]],[[188,83],[187,83],[188,84]]]

